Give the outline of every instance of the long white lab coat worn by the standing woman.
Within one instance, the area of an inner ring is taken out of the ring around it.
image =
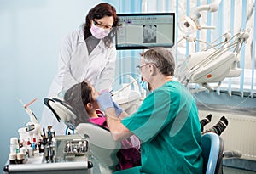
[[[89,81],[97,91],[111,89],[114,78],[116,49],[105,46],[101,40],[99,44],[88,53],[84,41],[83,29],[73,31],[67,35],[61,45],[58,74],[49,89],[49,97],[56,97],[61,91],[66,91],[74,84]],[[41,126],[47,128],[51,125],[56,134],[64,134],[66,126],[56,121],[48,108],[44,108]]]

